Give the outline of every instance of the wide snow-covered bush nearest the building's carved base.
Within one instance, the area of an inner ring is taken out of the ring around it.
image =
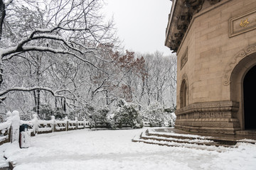
[[[144,121],[149,121],[151,126],[174,127],[176,115],[175,113],[169,113],[166,111],[167,110],[164,109],[161,104],[154,103],[147,111],[144,111],[143,119]]]

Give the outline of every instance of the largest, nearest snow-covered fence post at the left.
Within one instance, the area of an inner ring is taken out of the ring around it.
[[[20,118],[18,111],[13,111],[11,113],[11,142],[18,142],[19,140],[19,126],[20,126]]]

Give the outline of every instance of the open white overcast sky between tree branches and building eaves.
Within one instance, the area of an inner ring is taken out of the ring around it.
[[[114,17],[117,34],[125,50],[171,55],[164,46],[170,0],[105,0],[107,18]]]

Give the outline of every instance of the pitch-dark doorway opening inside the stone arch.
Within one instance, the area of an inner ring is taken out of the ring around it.
[[[245,75],[243,95],[245,130],[256,130],[256,66]]]

